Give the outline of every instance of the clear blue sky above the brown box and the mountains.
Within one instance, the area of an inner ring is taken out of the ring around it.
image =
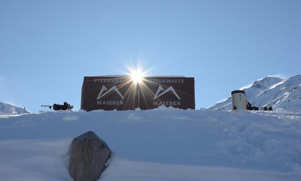
[[[80,108],[84,76],[195,77],[196,109],[301,73],[301,1],[0,0],[0,101]],[[125,65],[124,65],[125,64]]]

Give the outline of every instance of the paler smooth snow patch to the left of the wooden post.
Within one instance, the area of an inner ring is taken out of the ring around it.
[[[0,180],[70,180],[72,138],[0,140]]]

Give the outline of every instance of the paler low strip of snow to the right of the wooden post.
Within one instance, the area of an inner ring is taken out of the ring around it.
[[[131,165],[127,167],[127,165]],[[151,162],[130,161],[114,157],[101,175],[101,181],[115,180],[206,180],[206,181],[263,181],[263,180],[298,180],[297,174],[278,173],[251,169],[209,167],[199,165],[178,165]],[[116,170],[117,173],[113,173]],[[288,179],[290,178],[290,179]]]

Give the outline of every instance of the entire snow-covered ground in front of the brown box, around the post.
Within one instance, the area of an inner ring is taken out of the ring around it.
[[[113,151],[100,180],[301,180],[301,110],[57,111],[3,115],[0,180],[72,180],[69,146]]]

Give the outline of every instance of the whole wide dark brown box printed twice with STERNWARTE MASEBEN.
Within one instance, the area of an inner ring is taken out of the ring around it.
[[[160,105],[195,109],[194,78],[144,77],[136,83],[130,77],[84,77],[81,109],[147,110]]]

